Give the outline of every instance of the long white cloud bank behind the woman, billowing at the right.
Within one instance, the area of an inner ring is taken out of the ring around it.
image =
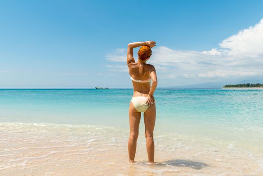
[[[180,51],[165,46],[152,49],[148,61],[160,78],[207,79],[263,75],[263,19],[223,40],[210,51]],[[106,66],[111,71],[127,72],[126,49],[116,49],[106,59],[123,65]],[[137,55],[136,55],[137,56]],[[125,71],[126,70],[126,71]]]

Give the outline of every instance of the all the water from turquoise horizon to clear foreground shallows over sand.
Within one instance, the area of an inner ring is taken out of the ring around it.
[[[0,90],[1,175],[263,175],[263,90],[156,90],[155,165],[143,121],[128,162],[131,95]]]

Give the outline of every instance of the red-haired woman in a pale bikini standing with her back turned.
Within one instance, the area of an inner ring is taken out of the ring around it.
[[[139,46],[141,46],[141,48],[138,51],[138,61],[135,62],[133,57],[133,48]],[[134,42],[128,44],[127,64],[129,67],[130,79],[134,88],[134,94],[129,105],[130,134],[128,150],[130,162],[134,162],[141,112],[144,112],[148,162],[154,162],[153,131],[156,109],[153,95],[157,86],[157,77],[155,67],[153,65],[146,64],[146,61],[152,55],[151,48],[154,46],[156,46],[154,41]],[[152,85],[150,85],[151,80]]]

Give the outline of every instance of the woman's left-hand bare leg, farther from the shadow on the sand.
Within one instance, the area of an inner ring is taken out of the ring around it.
[[[139,123],[141,119],[141,112],[138,112],[133,103],[129,104],[129,142],[128,142],[128,150],[129,150],[129,160],[134,161],[135,151],[136,151],[136,142],[139,134]]]

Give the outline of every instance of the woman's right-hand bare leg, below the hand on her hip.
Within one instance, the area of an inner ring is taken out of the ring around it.
[[[146,139],[146,149],[147,149],[149,162],[154,162],[155,117],[156,117],[156,109],[154,103],[144,112],[145,139]]]

